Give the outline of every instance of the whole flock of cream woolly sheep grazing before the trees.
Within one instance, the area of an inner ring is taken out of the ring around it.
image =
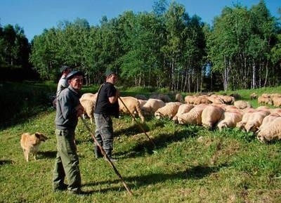
[[[121,100],[120,100],[121,98]],[[160,93],[153,93],[150,98],[143,95],[120,97],[119,110],[131,114],[145,122],[146,116],[156,119],[164,117],[180,125],[199,125],[207,129],[240,129],[252,132],[262,143],[281,140],[281,94],[263,93],[258,96],[251,93],[250,100],[257,100],[259,107],[241,100],[241,96],[217,95],[205,93],[183,97],[176,93],[174,98]],[[174,100],[174,101],[172,101]],[[93,118],[96,95],[85,93],[80,99],[85,114]],[[124,107],[126,105],[126,107]],[[273,105],[273,108],[268,107]]]

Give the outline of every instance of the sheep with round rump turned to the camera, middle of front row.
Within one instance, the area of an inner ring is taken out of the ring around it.
[[[216,105],[208,105],[202,111],[202,126],[207,129],[212,129],[214,124],[216,124],[219,119],[221,119],[221,114],[224,110]]]

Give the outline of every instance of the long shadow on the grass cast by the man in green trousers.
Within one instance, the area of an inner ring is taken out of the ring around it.
[[[126,184],[129,188],[138,188],[145,185],[155,185],[157,183],[162,183],[164,181],[173,181],[173,180],[181,180],[181,179],[192,179],[198,180],[207,176],[210,176],[211,173],[218,172],[221,168],[225,168],[226,164],[218,165],[218,166],[192,166],[191,168],[185,169],[184,171],[177,171],[175,173],[150,173],[148,175],[140,175],[140,176],[129,176],[123,177]],[[121,180],[115,179],[112,181],[98,181],[95,183],[85,183],[85,186],[97,186],[103,184],[110,183],[119,183]],[[103,190],[97,190],[98,192],[107,192],[109,190],[117,190],[120,188],[108,188]]]

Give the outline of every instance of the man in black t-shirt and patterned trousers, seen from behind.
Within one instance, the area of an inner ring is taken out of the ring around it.
[[[96,139],[105,150],[106,155],[112,162],[117,159],[112,158],[113,150],[113,126],[111,117],[119,117],[118,97],[119,91],[115,88],[117,74],[113,71],[105,73],[105,83],[100,86],[96,100],[94,118],[96,123]],[[100,157],[100,150],[94,146],[96,158]]]

